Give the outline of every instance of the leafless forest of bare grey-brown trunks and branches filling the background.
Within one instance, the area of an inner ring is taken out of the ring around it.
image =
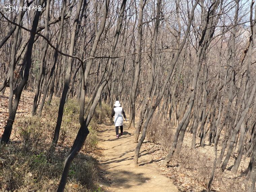
[[[211,146],[205,189],[212,189],[216,172],[228,172],[247,178],[244,190],[254,190],[254,0],[0,2],[1,95],[9,90],[2,145],[13,134],[24,90],[34,94],[32,116],[41,117],[53,97],[59,97],[49,154],[59,142],[65,103],[78,101],[79,130],[58,191],[65,188],[96,107],[106,103],[111,108],[116,100],[135,128],[135,164],[145,138],[156,143],[169,138],[163,167],[184,145],[191,150]],[[6,3],[42,10],[7,13]],[[159,123],[154,134],[160,136],[149,134],[154,123]],[[184,144],[186,135],[190,143]]]

